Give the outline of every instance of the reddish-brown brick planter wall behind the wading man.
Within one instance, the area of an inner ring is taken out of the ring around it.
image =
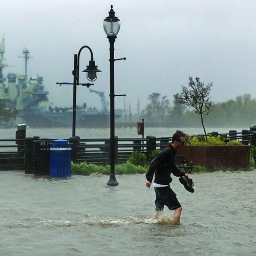
[[[250,146],[183,146],[177,156],[184,156],[194,165],[206,169],[225,169],[250,166]]]

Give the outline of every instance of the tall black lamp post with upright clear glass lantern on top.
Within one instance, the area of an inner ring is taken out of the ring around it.
[[[109,186],[117,186],[118,182],[115,176],[115,82],[114,82],[114,43],[120,30],[120,19],[115,16],[113,6],[109,11],[109,16],[104,19],[103,28],[110,42],[110,179]],[[122,58],[126,59],[126,58]]]

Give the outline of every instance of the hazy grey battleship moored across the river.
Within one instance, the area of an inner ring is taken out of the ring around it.
[[[28,79],[27,66],[29,51],[23,50],[25,59],[25,74],[3,74],[7,66],[4,63],[5,39],[0,44],[0,102],[6,108],[18,111],[17,120],[22,120],[29,127],[71,127],[72,107],[57,107],[48,100],[49,92],[45,90],[44,79],[41,76]],[[76,127],[109,127],[109,103],[103,92],[91,90],[100,97],[102,108],[90,108],[86,103],[76,108]],[[115,110],[115,118],[122,116],[121,110]],[[19,121],[20,122],[20,121]]]

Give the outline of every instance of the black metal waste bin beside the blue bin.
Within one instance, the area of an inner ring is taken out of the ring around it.
[[[50,139],[37,139],[34,144],[35,175],[50,175]]]

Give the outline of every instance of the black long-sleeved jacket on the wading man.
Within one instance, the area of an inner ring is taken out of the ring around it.
[[[184,176],[175,164],[175,156],[177,151],[171,143],[166,144],[161,152],[151,161],[150,167],[146,173],[146,180],[152,182],[154,174],[154,182],[161,185],[169,185],[172,182],[170,174],[173,173],[177,177]]]

